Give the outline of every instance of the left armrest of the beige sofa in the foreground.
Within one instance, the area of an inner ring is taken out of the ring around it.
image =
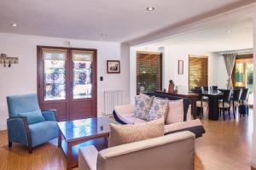
[[[97,156],[94,145],[79,148],[79,170],[96,170]]]

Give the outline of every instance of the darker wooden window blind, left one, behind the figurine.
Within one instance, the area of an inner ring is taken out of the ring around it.
[[[137,53],[137,94],[162,89],[162,54]]]

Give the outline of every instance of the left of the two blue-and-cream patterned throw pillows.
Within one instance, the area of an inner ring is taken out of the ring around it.
[[[139,94],[135,97],[135,111],[133,116],[148,120],[148,111],[150,110],[153,97],[149,97],[146,94]]]

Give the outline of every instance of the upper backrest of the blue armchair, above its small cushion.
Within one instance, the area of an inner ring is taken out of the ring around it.
[[[7,105],[9,117],[18,116],[20,113],[41,111],[37,94],[7,96]]]

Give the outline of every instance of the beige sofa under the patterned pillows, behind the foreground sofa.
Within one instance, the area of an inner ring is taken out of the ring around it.
[[[113,116],[115,120],[121,124],[136,124],[146,122],[133,116],[134,105],[118,105],[114,107]],[[189,111],[188,111],[189,112]],[[189,112],[190,113],[190,112]],[[195,137],[201,137],[205,133],[205,129],[199,119],[192,119],[191,114],[187,114],[186,121],[176,122],[165,125],[165,133],[177,133],[181,131],[190,131],[195,133]]]

